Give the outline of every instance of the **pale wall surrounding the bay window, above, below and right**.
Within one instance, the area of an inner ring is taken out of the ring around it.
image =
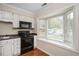
[[[37,13],[37,20],[40,18],[46,18],[50,17],[56,14],[61,13],[62,11],[65,11],[67,8],[74,6],[75,7],[75,18],[74,18],[74,48],[79,52],[79,4],[52,4],[52,6],[47,7],[40,10]],[[39,22],[37,23],[39,24]],[[37,33],[39,34],[39,28],[37,26]],[[38,37],[39,38],[39,37]],[[78,55],[78,53],[75,53],[73,51],[63,49],[59,46],[56,46],[54,44],[50,44],[41,40],[37,39],[37,47],[46,51],[50,55],[56,55],[56,56],[71,56],[71,55]]]

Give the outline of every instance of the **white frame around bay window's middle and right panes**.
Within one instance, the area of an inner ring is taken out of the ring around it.
[[[66,40],[66,38],[65,38],[65,20],[66,20],[66,16],[67,16],[67,14],[69,14],[69,13],[71,13],[71,12],[73,12],[73,16],[74,16],[74,7],[70,7],[70,8],[68,8],[67,10],[65,10],[64,12],[61,12],[61,13],[59,13],[59,14],[56,14],[56,15],[53,15],[53,16],[51,16],[51,17],[48,17],[48,18],[46,18],[46,20],[47,20],[47,29],[48,29],[48,19],[49,18],[54,18],[54,17],[58,17],[58,16],[63,16],[63,31],[64,31],[64,41],[62,42],[62,41],[57,41],[57,40],[51,40],[51,41],[55,41],[55,42],[61,42],[61,43],[64,43],[64,44],[66,44],[66,42],[65,42],[65,40]],[[74,24],[74,18],[75,17],[73,17],[73,24]],[[47,31],[47,29],[46,29],[46,39],[48,39],[47,38],[47,35],[48,35],[48,31]],[[72,31],[73,31],[73,41],[74,41],[74,26],[73,26],[73,28],[72,28]],[[50,40],[50,39],[49,39]],[[72,43],[72,47],[73,47],[73,43]]]

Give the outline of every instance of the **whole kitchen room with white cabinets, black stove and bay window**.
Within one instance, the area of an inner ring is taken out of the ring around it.
[[[78,3],[0,4],[0,56],[79,56],[78,16]]]

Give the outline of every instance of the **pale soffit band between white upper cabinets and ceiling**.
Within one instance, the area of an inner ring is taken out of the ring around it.
[[[28,16],[28,17],[35,17],[33,12],[24,10],[22,8],[16,7],[16,6],[12,6],[6,3],[0,4],[1,10],[5,10],[8,12],[13,12],[19,15],[23,15],[23,16]]]

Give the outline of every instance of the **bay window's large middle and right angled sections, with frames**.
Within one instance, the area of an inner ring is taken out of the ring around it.
[[[47,18],[47,38],[73,46],[73,10]]]

